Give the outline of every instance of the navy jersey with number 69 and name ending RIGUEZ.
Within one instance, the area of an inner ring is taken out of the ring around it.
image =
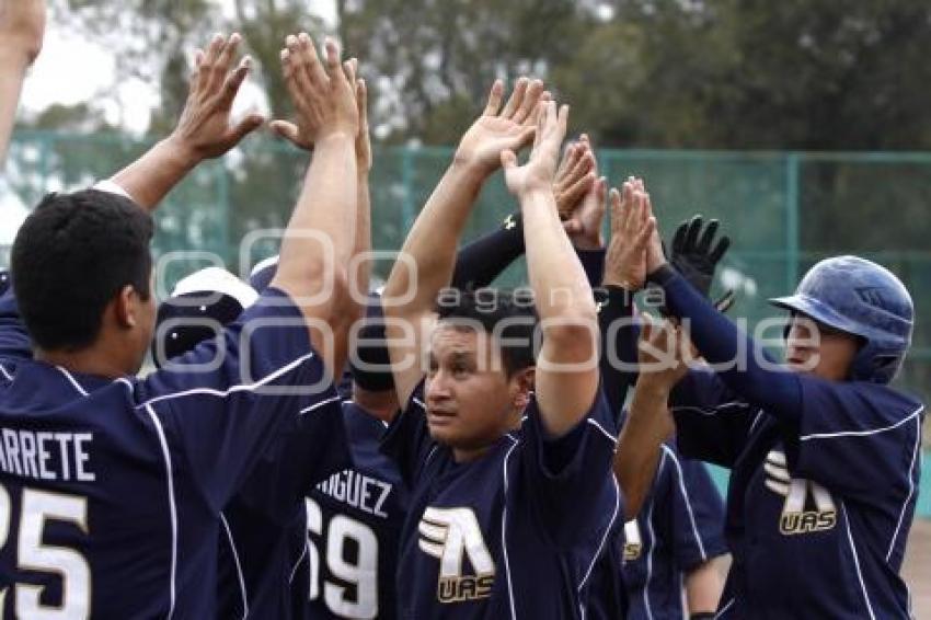
[[[306,501],[303,553],[294,570],[301,618],[390,620],[398,597],[398,547],[407,493],[379,450],[386,425],[343,405],[353,467],[319,483]]]

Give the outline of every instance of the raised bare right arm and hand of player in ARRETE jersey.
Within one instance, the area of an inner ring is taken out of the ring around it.
[[[335,377],[346,354],[346,265],[355,242],[355,140],[359,115],[354,77],[327,41],[326,67],[307,34],[289,36],[281,51],[297,126],[314,145],[313,158],[281,241],[272,285],[288,292],[308,320],[311,343]]]

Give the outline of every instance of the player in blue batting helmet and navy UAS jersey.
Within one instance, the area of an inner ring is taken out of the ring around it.
[[[648,195],[643,195],[648,200]],[[712,370],[673,398],[681,452],[732,469],[734,563],[719,618],[908,618],[899,576],[924,406],[889,382],[908,351],[903,284],[855,256],[821,261],[795,295],[775,365],[670,267],[645,256]]]

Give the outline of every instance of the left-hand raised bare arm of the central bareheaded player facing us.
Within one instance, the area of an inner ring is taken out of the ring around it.
[[[521,78],[501,110],[503,94],[504,87],[495,82],[484,113],[462,137],[452,165],[414,222],[384,287],[386,344],[401,406],[423,376],[423,335],[428,333],[437,294],[452,277],[459,236],[475,198],[501,165],[501,152],[519,149],[533,136],[532,113],[544,95],[542,82]],[[409,290],[413,295],[403,299]],[[413,333],[405,333],[404,325]]]

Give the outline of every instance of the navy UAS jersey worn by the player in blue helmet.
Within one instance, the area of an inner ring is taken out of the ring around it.
[[[733,470],[720,617],[908,618],[923,406],[877,383],[800,384],[797,428],[703,370],[674,394],[681,452]]]

